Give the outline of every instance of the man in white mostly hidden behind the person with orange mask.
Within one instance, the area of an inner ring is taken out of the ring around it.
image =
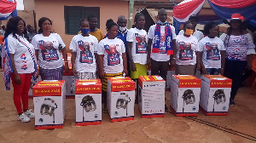
[[[200,41],[204,37],[204,34],[201,31],[197,31],[195,29],[197,22],[198,22],[198,18],[195,15],[192,15],[189,17],[189,22],[191,22],[193,25],[194,33],[192,34],[192,36],[196,37],[198,39],[198,41]],[[183,34],[184,34],[183,30],[178,32],[178,35],[183,35]]]

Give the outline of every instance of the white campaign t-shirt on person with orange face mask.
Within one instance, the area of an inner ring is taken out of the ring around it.
[[[176,64],[177,65],[195,65],[197,49],[197,38],[194,36],[184,37],[178,35],[176,38],[177,43],[177,54]]]

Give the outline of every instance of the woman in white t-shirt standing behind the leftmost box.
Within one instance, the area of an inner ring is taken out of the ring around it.
[[[38,75],[40,73],[42,80],[61,80],[63,69],[68,72],[66,45],[59,34],[51,32],[52,21],[49,18],[42,17],[38,20],[38,26],[38,34],[32,38],[38,59]]]

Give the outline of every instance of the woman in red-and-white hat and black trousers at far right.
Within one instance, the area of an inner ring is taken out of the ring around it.
[[[226,61],[224,76],[232,79],[230,105],[235,106],[235,96],[241,83],[241,77],[245,69],[252,69],[255,45],[253,38],[246,30],[242,30],[241,22],[245,18],[241,14],[232,14],[230,27],[219,38],[224,41],[226,49]]]

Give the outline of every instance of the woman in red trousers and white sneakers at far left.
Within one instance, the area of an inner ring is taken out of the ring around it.
[[[18,120],[22,122],[29,122],[34,117],[34,113],[28,110],[28,91],[32,75],[36,79],[37,72],[34,53],[35,49],[26,35],[25,21],[19,16],[10,18],[3,43],[3,75],[7,90],[12,80]]]

